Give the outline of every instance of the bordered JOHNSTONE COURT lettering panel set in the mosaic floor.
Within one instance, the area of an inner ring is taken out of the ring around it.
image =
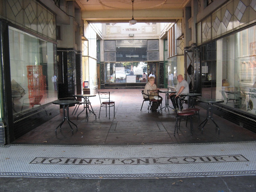
[[[150,158],[63,158],[36,157],[30,164],[75,164],[75,165],[141,165],[141,164],[185,164],[221,163],[249,161],[242,155],[150,157]]]

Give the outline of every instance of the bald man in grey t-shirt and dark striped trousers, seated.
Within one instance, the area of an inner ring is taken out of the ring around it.
[[[180,96],[182,93],[189,93],[188,82],[183,78],[182,75],[178,75],[177,77],[178,84],[176,85],[175,91],[176,93],[171,93],[169,95],[169,99],[175,97],[175,104],[178,106],[178,110],[182,110],[182,101],[186,96]]]

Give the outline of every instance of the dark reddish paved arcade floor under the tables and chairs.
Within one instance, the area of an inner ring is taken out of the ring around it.
[[[164,90],[164,89],[163,89]],[[85,118],[85,111],[77,119],[77,114],[82,111],[79,107],[76,116],[72,115],[75,107],[71,107],[70,120],[78,126],[78,131],[74,135],[71,129],[64,122],[61,128],[55,128],[62,121],[62,109],[60,114],[50,121],[40,125],[34,130],[21,136],[14,143],[29,144],[56,144],[56,145],[131,145],[131,144],[167,144],[167,143],[209,143],[209,142],[234,142],[234,141],[251,141],[256,140],[256,134],[233,124],[219,116],[214,115],[215,122],[220,127],[220,135],[215,131],[215,126],[211,121],[204,127],[204,134],[197,128],[197,117],[193,119],[194,130],[190,135],[189,121],[188,127],[183,120],[180,124],[179,133],[173,136],[175,126],[175,112],[170,108],[163,111],[163,114],[149,112],[144,102],[142,110],[142,94],[140,89],[104,89],[99,91],[110,91],[111,100],[115,101],[114,108],[110,108],[110,119],[106,117],[105,109],[100,110],[100,100],[98,94],[90,98],[92,108],[97,115],[89,114],[89,119]],[[160,93],[164,98],[164,94]],[[163,101],[164,104],[165,101]],[[186,104],[184,104],[186,108]],[[200,108],[200,107],[199,107]],[[200,110],[200,123],[206,118],[206,110]]]

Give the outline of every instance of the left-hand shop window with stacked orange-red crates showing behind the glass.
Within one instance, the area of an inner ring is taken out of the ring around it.
[[[56,44],[9,27],[13,114],[58,99]]]

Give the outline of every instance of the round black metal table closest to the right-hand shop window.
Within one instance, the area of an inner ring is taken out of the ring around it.
[[[218,128],[218,134],[220,134],[220,127],[215,123],[215,121],[213,121],[213,117],[212,117],[212,111],[213,111],[213,108],[212,108],[212,105],[213,103],[223,103],[224,100],[220,100],[220,99],[199,99],[197,100],[198,102],[201,102],[201,103],[206,103],[207,104],[207,109],[206,109],[206,119],[201,123],[204,125],[207,123],[209,117],[211,118],[212,122],[216,125],[216,130]],[[209,111],[211,110],[211,113],[209,114]],[[199,125],[199,129],[201,127],[201,124]],[[202,134],[203,134],[203,128],[204,128],[204,125],[202,127]]]

